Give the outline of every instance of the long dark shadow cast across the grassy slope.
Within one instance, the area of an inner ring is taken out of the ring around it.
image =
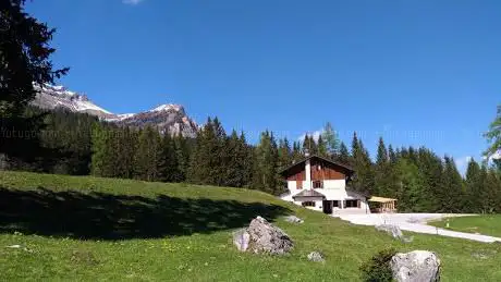
[[[276,205],[207,198],[157,198],[0,187],[0,232],[93,240],[152,238],[244,226],[256,216],[273,220]]]

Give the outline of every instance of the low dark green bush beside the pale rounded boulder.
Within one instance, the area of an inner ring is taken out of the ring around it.
[[[366,282],[391,282],[393,275],[390,260],[396,254],[393,248],[388,248],[374,255],[370,260],[361,266],[362,280]]]

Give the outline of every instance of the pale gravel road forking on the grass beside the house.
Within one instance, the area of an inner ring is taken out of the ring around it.
[[[472,214],[450,214],[450,213],[371,213],[371,214],[340,214],[337,216],[342,220],[350,221],[359,225],[378,225],[378,224],[394,224],[401,230],[412,231],[425,234],[435,234],[441,236],[467,238],[478,242],[501,242],[500,237],[492,237],[481,234],[464,233],[444,230],[428,225],[426,222],[431,220],[440,220],[448,217],[467,217]]]

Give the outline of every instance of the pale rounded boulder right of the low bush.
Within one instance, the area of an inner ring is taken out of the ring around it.
[[[440,259],[432,252],[399,253],[391,258],[390,266],[398,282],[440,281]]]

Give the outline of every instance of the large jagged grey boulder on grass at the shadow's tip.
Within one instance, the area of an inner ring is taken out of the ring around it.
[[[236,231],[233,244],[242,252],[271,255],[284,255],[294,247],[288,234],[261,217],[253,219],[247,229]]]

